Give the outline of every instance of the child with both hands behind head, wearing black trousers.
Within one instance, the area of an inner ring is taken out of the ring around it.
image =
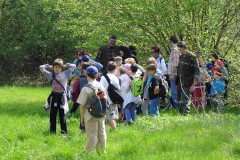
[[[67,68],[67,70],[62,71],[64,68]],[[59,58],[53,61],[52,66],[49,64],[39,66],[40,71],[44,73],[52,87],[52,93],[48,97],[50,104],[50,133],[56,133],[56,116],[58,111],[61,133],[68,133],[65,116],[65,113],[68,111],[68,102],[65,91],[68,78],[72,75],[72,71],[75,68],[75,64],[67,63],[63,65],[63,60]],[[53,73],[47,71],[47,69],[53,69]]]

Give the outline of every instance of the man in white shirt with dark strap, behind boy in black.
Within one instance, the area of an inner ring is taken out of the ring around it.
[[[156,59],[157,68],[161,71],[162,76],[167,74],[167,66],[165,63],[165,59],[159,54],[160,49],[158,46],[151,47],[152,57]]]

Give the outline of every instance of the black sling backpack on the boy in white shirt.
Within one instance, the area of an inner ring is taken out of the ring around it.
[[[104,75],[105,79],[107,80],[108,86],[108,96],[114,104],[121,104],[123,103],[123,97],[121,95],[120,89],[117,89],[113,84],[110,83],[110,79],[107,75]]]

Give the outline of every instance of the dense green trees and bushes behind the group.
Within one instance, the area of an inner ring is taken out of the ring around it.
[[[2,82],[22,85],[32,77],[37,84],[40,64],[56,57],[72,62],[79,47],[94,58],[110,34],[118,37],[118,45],[135,45],[142,63],[155,44],[168,59],[169,37],[176,35],[205,60],[218,51],[232,73],[229,88],[239,89],[237,0],[0,0],[0,5]],[[238,97],[231,89],[231,97]]]

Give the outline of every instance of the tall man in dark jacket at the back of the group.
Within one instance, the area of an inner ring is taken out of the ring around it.
[[[117,37],[111,35],[108,39],[108,44],[103,45],[98,49],[95,60],[103,65],[102,73],[107,73],[107,64],[114,60],[114,57],[119,55],[119,48],[116,46]]]

